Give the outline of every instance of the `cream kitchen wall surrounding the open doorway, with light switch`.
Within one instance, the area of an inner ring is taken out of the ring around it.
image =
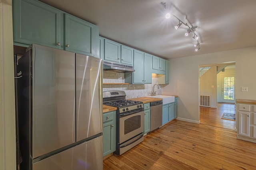
[[[178,95],[178,118],[199,123],[199,65],[236,62],[236,99],[256,100],[256,47],[170,59],[170,84],[162,94]],[[241,92],[248,87],[248,92]]]

